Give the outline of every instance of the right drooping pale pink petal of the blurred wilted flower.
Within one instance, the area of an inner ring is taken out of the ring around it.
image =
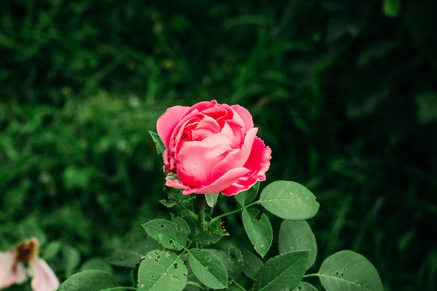
[[[32,289],[34,291],[56,291],[59,287],[57,276],[43,259],[35,259],[29,262],[34,271]]]

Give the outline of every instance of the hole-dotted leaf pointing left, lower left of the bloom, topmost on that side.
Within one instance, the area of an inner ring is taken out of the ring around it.
[[[164,248],[180,251],[186,246],[187,237],[177,223],[166,219],[154,219],[142,224],[142,227]]]

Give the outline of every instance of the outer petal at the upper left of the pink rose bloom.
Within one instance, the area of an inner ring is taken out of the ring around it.
[[[158,118],[158,121],[156,121],[156,131],[159,137],[161,137],[165,147],[168,147],[170,135],[188,110],[190,110],[188,106],[170,107]]]

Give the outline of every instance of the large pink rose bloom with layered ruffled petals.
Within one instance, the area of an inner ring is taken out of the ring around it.
[[[240,105],[212,100],[170,107],[158,118],[156,130],[166,147],[165,185],[184,189],[184,195],[230,196],[265,180],[272,151],[256,136],[251,114]]]

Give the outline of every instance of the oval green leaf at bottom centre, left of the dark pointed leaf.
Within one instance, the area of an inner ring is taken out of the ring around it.
[[[188,261],[193,273],[208,288],[222,289],[228,284],[228,272],[217,255],[207,249],[188,250]]]

